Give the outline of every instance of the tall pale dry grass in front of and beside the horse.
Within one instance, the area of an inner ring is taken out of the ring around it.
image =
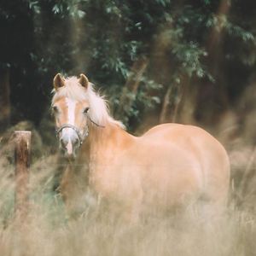
[[[67,218],[61,197],[53,190],[58,169],[56,154],[33,153],[36,156],[31,166],[30,207],[26,221],[20,224],[14,214],[10,140],[0,148],[1,256],[256,255],[253,147],[237,140],[230,145],[232,186],[224,218],[212,221],[187,212],[145,217],[137,224],[124,223],[106,207],[85,201],[80,202],[84,212],[78,218]],[[42,145],[35,138],[32,145],[36,153],[40,152]]]

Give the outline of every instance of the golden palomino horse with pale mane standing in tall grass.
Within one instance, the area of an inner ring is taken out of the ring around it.
[[[69,162],[61,180],[67,206],[78,201],[79,189],[87,185],[134,216],[146,206],[226,204],[229,159],[207,131],[164,124],[132,136],[109,115],[84,74],[79,79],[57,74],[53,92],[56,135]]]

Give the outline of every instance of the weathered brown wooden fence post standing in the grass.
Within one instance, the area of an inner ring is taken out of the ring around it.
[[[28,207],[28,178],[31,131],[15,131],[15,214],[25,218]]]

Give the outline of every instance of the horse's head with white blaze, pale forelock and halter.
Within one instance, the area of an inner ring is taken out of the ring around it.
[[[89,81],[84,74],[81,74],[79,79],[64,79],[58,73],[53,85],[55,96],[51,108],[55,117],[56,137],[65,156],[73,159],[89,135]]]

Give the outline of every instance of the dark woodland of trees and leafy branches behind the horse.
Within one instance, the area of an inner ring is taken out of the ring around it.
[[[255,22],[253,0],[1,0],[1,130],[44,129],[59,72],[85,73],[130,131],[212,126],[224,113],[242,123]]]

